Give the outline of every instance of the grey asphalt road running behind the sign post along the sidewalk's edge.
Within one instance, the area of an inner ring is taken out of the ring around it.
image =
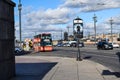
[[[72,47],[55,47],[52,52],[38,52],[30,53],[30,56],[58,56],[58,57],[71,57],[75,58],[78,52],[78,48]],[[98,62],[104,66],[109,67],[115,72],[120,72],[119,58],[116,55],[120,52],[120,48],[114,48],[113,50],[97,50],[97,48],[92,46],[85,46],[80,48],[81,56],[83,59],[89,59]]]

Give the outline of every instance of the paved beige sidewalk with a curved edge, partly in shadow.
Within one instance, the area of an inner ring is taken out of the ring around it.
[[[12,80],[120,80],[113,72],[89,60],[46,56],[17,56]]]

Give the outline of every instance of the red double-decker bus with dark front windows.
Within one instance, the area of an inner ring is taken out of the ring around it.
[[[52,37],[50,33],[42,33],[34,36],[33,47],[36,52],[52,51]]]

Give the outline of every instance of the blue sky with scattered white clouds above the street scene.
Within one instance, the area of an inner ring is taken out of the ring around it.
[[[19,39],[18,1],[15,7],[16,38]],[[94,14],[97,16],[97,34],[120,32],[120,0],[21,0],[22,39],[33,38],[43,32],[52,33],[53,39],[61,39],[61,32],[73,31],[73,19],[84,22],[84,35],[94,34]]]

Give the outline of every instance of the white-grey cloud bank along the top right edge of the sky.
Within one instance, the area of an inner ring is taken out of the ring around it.
[[[61,7],[79,8],[83,12],[119,8],[119,0],[66,0]]]

